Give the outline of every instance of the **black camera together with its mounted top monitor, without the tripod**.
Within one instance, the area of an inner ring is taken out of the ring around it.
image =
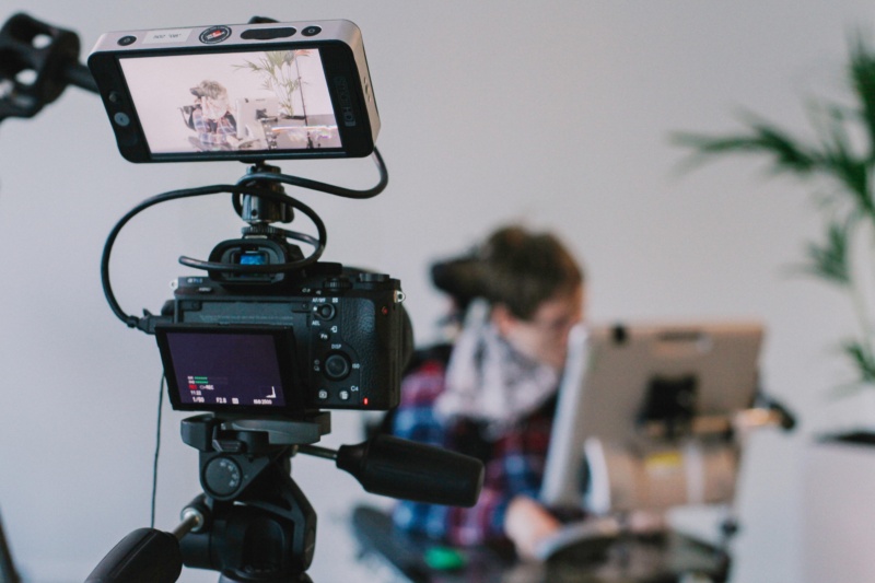
[[[249,191],[235,193],[243,238],[185,264],[208,275],[179,278],[162,315],[139,326],[158,338],[174,408],[294,418],[397,406],[411,343],[399,281],[310,261],[269,225],[291,222],[295,205],[277,198],[267,160],[374,152],[380,117],[358,26],[107,33],[88,62],[129,161],[254,163],[240,183]]]

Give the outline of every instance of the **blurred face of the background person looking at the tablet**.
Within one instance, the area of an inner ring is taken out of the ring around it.
[[[499,333],[516,350],[560,369],[565,363],[571,328],[583,319],[583,285],[542,302],[532,319],[520,319],[502,305],[493,308]]]

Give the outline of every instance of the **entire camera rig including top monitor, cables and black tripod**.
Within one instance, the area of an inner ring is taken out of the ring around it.
[[[128,327],[155,336],[173,408],[206,411],[182,421],[183,441],[199,452],[203,493],[173,535],[135,530],[89,581],[175,581],[183,564],[220,571],[229,583],[310,581],[316,514],[290,475],[300,453],[334,459],[369,492],[474,505],[483,480],[478,459],[390,435],[337,451],[314,445],[330,433],[324,409],[396,407],[412,352],[400,282],[320,261],[325,224],[283,190],[364,199],[388,182],[374,147],[380,117],[359,28],[255,18],[107,33],[89,68],[127,160],[252,164],[235,185],[151,197],[107,236],[101,280],[109,307]],[[267,164],[369,154],[380,182],[363,190]],[[248,223],[242,237],[219,243],[207,260],[180,257],[206,275],[178,278],[160,314],[122,311],[109,278],[121,229],[154,205],[223,193]],[[296,212],[315,236],[272,224],[290,223]],[[313,250],[305,256],[292,242]]]

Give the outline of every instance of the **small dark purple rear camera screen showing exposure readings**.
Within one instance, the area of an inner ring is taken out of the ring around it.
[[[291,328],[177,325],[155,331],[174,409],[296,409]]]

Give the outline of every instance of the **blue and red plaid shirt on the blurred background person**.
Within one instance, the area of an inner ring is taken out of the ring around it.
[[[434,413],[444,390],[445,364],[425,361],[401,384],[395,412],[395,435],[472,455],[486,466],[480,498],[472,508],[400,501],[393,517],[400,528],[454,545],[505,541],[504,515],[518,494],[537,498],[544,478],[556,399],[493,442],[480,438],[470,421],[445,427]]]

